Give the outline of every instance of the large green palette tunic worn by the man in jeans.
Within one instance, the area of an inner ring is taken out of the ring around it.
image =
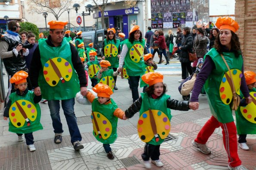
[[[58,47],[51,47],[45,41],[39,45],[42,68],[39,86],[46,100],[66,100],[74,98],[80,91],[77,72],[71,61],[70,44],[62,41]]]

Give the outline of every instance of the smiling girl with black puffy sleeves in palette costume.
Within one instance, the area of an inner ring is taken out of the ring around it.
[[[163,75],[158,72],[149,72],[142,75],[142,80],[149,86],[146,93],[136,100],[126,111],[126,118],[131,118],[139,111],[138,134],[139,138],[145,142],[142,159],[145,168],[151,168],[151,163],[157,167],[162,167],[160,161],[160,144],[170,132],[170,119],[172,117],[170,109],[187,111],[189,108],[195,110],[188,101],[178,101],[171,99],[167,95],[166,84],[163,84]]]

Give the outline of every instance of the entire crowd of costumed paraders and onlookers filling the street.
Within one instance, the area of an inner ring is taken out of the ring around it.
[[[256,134],[256,124],[246,119],[243,111],[231,105],[234,104],[235,95],[239,94],[241,104],[238,102],[237,107],[247,107],[248,110],[253,108],[250,106],[255,105],[252,96],[256,92],[256,79],[254,72],[244,72],[240,42],[235,34],[239,25],[232,18],[219,18],[216,21],[217,28],[210,31],[210,36],[205,28],[193,28],[192,33],[189,27],[178,28],[177,35],[169,30],[164,36],[163,30],[153,32],[148,27],[143,39],[140,27],[134,25],[125,39],[126,35],[120,29],[116,31],[108,28],[101,60],[97,58],[93,43],[86,48],[81,31],[76,33],[73,44],[71,31],[64,32],[67,22],[50,21],[48,24],[49,36],[44,37],[40,33],[37,44],[34,33],[19,33],[19,22],[9,21],[7,33],[0,42],[0,57],[6,68],[9,87],[3,116],[5,120],[9,117],[9,131],[16,133],[19,141],[23,141],[25,134],[31,152],[36,150],[33,132],[43,128],[38,104],[42,98],[48,102],[54,142],[62,143],[63,128],[59,112],[61,101],[71,143],[75,150],[83,149],[74,113],[74,98],[78,93],[92,103],[93,135],[103,143],[109,159],[115,158],[110,144],[117,139],[117,119],[126,120],[139,112],[138,134],[146,143],[142,153],[143,163],[146,168],[151,168],[151,163],[162,167],[160,144],[170,132],[170,109],[197,110],[198,95],[204,88],[213,116],[199,131],[192,145],[200,152],[210,154],[207,140],[215,128],[221,127],[228,168],[247,170],[241,165],[237,154],[236,135],[239,134],[238,146],[248,150],[246,137],[247,134]],[[174,37],[182,67],[182,79],[179,81],[185,81],[187,72],[190,75],[193,72],[197,74],[190,101],[170,98],[166,94],[167,85],[163,83],[163,75],[154,72],[157,69],[157,63],[153,61],[156,52],[158,64],[163,63],[162,55],[166,65],[169,64],[173,55]],[[210,44],[210,51],[207,51],[207,43]],[[189,53],[193,52],[197,54],[197,60],[191,63]],[[125,111],[118,108],[110,97],[118,89],[116,82],[119,74],[121,78],[128,79],[133,98],[133,104]],[[97,96],[87,90],[88,76]],[[141,95],[139,84],[143,87]],[[228,88],[231,89],[231,95],[225,92]],[[237,128],[232,109],[236,110]],[[15,114],[21,115],[20,120],[17,120]],[[164,133],[159,133],[157,129],[164,129]]]

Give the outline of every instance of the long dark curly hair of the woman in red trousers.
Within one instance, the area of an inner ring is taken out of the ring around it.
[[[235,57],[238,58],[239,55],[241,55],[241,48],[240,48],[239,38],[233,31],[231,31],[231,34],[232,34],[231,41],[230,41],[231,51],[234,51]],[[225,48],[225,46],[220,43],[219,33],[218,33],[218,36],[215,39],[214,45],[215,45],[216,51],[218,51],[219,54],[223,54],[222,51],[223,51],[223,48]]]

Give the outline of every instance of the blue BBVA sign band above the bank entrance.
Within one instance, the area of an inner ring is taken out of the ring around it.
[[[116,16],[116,15],[133,15],[133,14],[139,14],[139,8],[128,8],[128,9],[117,9],[117,10],[111,10],[111,11],[105,11],[104,16]],[[99,17],[101,17],[101,12],[99,12]]]

